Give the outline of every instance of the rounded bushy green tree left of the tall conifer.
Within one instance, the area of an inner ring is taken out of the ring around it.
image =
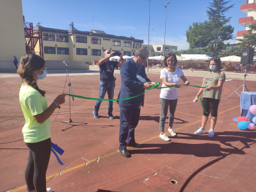
[[[189,48],[193,49],[196,47],[206,47],[211,42],[209,22],[193,22],[193,26],[189,26],[186,31],[187,42]]]

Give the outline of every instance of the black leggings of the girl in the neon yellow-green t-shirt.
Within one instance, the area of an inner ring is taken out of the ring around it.
[[[51,156],[51,138],[38,143],[26,143],[29,148],[25,180],[28,191],[46,191],[46,170]]]

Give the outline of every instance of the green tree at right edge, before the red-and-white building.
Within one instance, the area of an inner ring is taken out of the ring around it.
[[[243,38],[237,39],[240,44],[250,48],[256,49],[256,24],[248,26],[248,34],[244,34]]]

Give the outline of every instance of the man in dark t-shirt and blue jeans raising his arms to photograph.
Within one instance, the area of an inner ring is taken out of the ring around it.
[[[104,52],[105,58],[99,60],[100,66],[100,93],[99,99],[104,99],[106,92],[108,92],[108,99],[114,98],[114,89],[115,89],[115,77],[114,70],[115,67],[121,67],[124,63],[123,55],[120,54],[120,61],[109,61],[111,57],[114,56],[115,51],[110,52],[110,50],[106,50]],[[97,100],[94,106],[93,116],[95,118],[99,118],[99,109],[101,100]],[[113,111],[113,101],[108,102],[108,117],[113,119],[114,116],[112,114]]]

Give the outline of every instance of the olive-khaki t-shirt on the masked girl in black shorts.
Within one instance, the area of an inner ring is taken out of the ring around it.
[[[218,72],[217,73],[207,72],[205,74],[204,80],[203,80],[204,81],[204,87],[216,86],[218,84],[218,81],[221,81],[221,80],[223,80],[223,81],[226,80],[226,76],[225,76],[224,72],[220,72],[220,73],[218,73]],[[204,89],[203,97],[220,100],[221,92],[222,92],[222,86],[218,90],[207,91],[206,89]]]

